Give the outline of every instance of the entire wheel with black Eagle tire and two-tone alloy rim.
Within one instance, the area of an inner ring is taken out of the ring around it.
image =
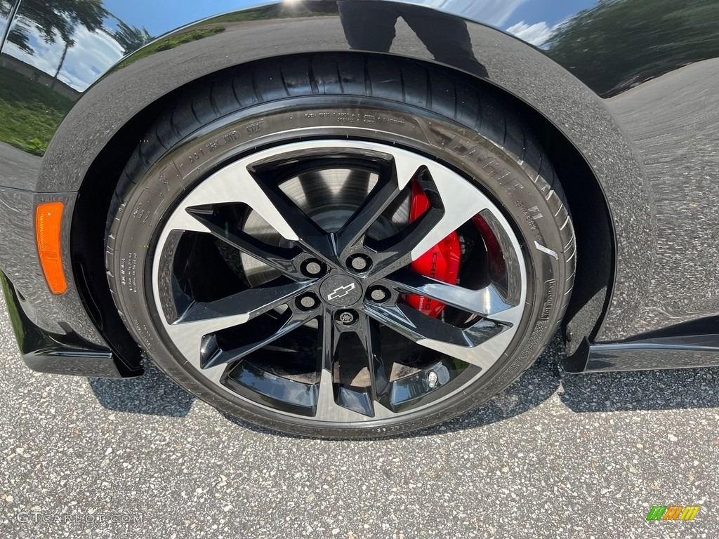
[[[429,209],[412,221],[421,196]],[[432,251],[471,286],[428,280],[439,274],[416,269],[418,247],[475,206],[485,209]],[[375,220],[352,243],[362,207]],[[257,241],[272,253],[260,270]],[[116,307],[160,369],[240,420],[320,438],[426,428],[503,390],[557,331],[574,254],[551,163],[500,97],[439,68],[355,54],[245,65],[186,90],[135,149],[106,234]],[[475,308],[480,293],[489,299]]]

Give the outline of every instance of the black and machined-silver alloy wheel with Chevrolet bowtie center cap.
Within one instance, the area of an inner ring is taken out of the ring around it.
[[[198,379],[346,424],[437,405],[489,372],[527,278],[513,227],[473,180],[409,149],[313,140],[190,190],[157,238],[152,294]]]

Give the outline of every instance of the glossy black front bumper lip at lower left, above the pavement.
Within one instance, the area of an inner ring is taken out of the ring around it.
[[[25,314],[21,295],[2,272],[0,281],[20,354],[27,367],[50,374],[124,378],[110,349],[89,343],[74,332],[59,335],[36,326]]]

